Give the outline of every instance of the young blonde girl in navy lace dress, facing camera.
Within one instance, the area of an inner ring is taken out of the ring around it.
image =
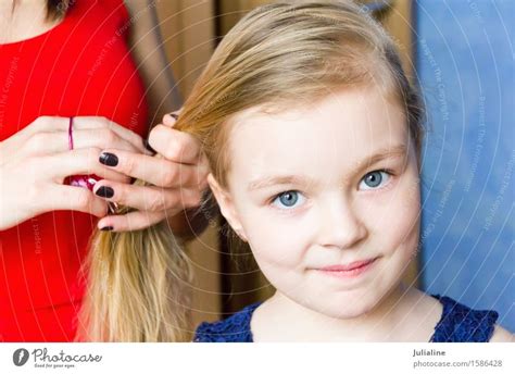
[[[401,282],[419,240],[423,110],[392,40],[343,1],[259,8],[175,125],[276,288],[194,341],[510,340],[493,311]]]

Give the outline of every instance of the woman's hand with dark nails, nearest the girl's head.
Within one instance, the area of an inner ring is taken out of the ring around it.
[[[199,142],[189,134],[173,128],[175,120],[165,115],[163,124],[150,133],[149,145],[156,155],[128,150],[104,149],[99,160],[113,172],[145,180],[152,186],[129,185],[110,178],[95,185],[97,196],[137,209],[121,215],[108,215],[98,227],[116,232],[148,227],[198,207],[208,187],[208,161]]]

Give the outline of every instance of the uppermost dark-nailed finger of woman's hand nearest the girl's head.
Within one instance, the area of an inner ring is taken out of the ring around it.
[[[202,159],[201,159],[202,161]],[[183,164],[163,158],[105,149],[101,162],[113,171],[145,180],[159,187],[205,187],[208,166]]]

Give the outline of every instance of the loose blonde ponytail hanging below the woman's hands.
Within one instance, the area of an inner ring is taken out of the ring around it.
[[[85,270],[77,341],[190,339],[189,263],[166,222],[136,232],[98,230]]]

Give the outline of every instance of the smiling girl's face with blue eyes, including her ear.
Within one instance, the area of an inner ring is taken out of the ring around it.
[[[305,110],[240,113],[228,188],[209,180],[277,291],[334,317],[370,311],[416,252],[415,149],[398,103],[372,87]]]

